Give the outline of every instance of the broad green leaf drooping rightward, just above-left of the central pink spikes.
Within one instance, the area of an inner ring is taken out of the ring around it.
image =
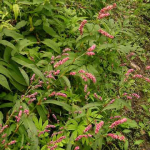
[[[45,39],[43,42],[46,46],[52,48],[55,52],[60,53],[60,48],[56,42],[50,39]]]

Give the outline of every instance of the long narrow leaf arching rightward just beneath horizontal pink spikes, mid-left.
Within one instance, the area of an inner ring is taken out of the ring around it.
[[[55,104],[55,105],[63,107],[67,111],[71,111],[71,106],[69,106],[68,104],[64,102],[60,102],[56,100],[46,100],[46,102],[43,102],[42,104]]]

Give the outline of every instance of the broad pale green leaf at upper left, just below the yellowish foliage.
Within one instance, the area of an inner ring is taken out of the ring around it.
[[[3,32],[6,36],[12,37],[15,40],[23,39],[23,36],[16,31],[4,29]]]

